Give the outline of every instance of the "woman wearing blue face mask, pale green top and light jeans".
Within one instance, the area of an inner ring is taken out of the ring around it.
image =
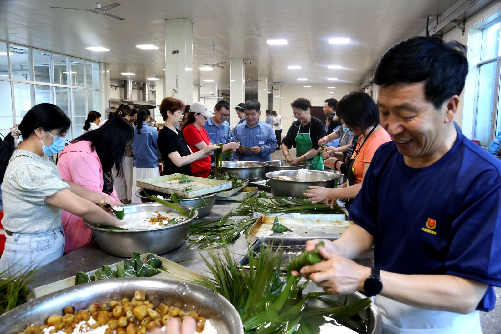
[[[109,197],[62,180],[49,157],[61,152],[70,119],[61,108],[42,103],[11,128],[0,147],[0,179],[6,229],[0,272],[42,267],[63,255],[61,210],[104,225],[123,225],[96,204]],[[23,141],[15,147],[15,139]]]

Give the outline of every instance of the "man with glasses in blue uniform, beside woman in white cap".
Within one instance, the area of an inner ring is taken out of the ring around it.
[[[231,142],[231,132],[226,119],[229,116],[229,104],[226,101],[219,101],[214,107],[214,116],[207,119],[203,128],[209,135],[212,144],[227,144]],[[212,162],[215,161],[214,155],[211,156]]]

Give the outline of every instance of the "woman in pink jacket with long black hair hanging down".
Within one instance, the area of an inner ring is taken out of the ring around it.
[[[133,138],[132,125],[122,117],[110,119],[102,127],[75,139],[61,152],[57,164],[64,180],[109,196],[115,205],[122,205],[115,188],[111,168],[122,170],[125,147]],[[83,219],[67,211],[62,214],[65,235],[64,251],[69,253],[92,237]]]

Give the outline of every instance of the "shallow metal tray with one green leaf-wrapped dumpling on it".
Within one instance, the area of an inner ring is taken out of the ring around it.
[[[292,232],[278,233],[272,231],[275,218],[289,227]],[[329,220],[313,218],[291,218],[283,216],[260,216],[258,220],[250,227],[246,240],[248,243],[263,237],[275,237],[279,239],[288,239],[296,237],[310,238],[339,238],[347,227],[353,224],[351,220]]]

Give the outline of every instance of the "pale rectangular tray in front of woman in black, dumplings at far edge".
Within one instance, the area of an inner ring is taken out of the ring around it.
[[[196,176],[188,177],[193,181],[179,183],[181,174],[176,173],[136,180],[136,185],[143,189],[155,190],[164,194],[178,194],[183,198],[203,196],[231,188],[231,181],[205,179]],[[193,190],[184,191],[183,189],[187,186],[191,186]]]

